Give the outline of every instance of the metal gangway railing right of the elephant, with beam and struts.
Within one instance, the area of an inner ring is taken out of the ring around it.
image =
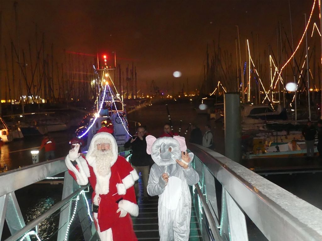
[[[217,152],[188,147],[200,176],[192,196],[204,241],[249,240],[245,215],[268,240],[322,240],[322,210]]]

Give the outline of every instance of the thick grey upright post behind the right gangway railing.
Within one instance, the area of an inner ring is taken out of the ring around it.
[[[241,111],[239,93],[224,96],[225,156],[235,162],[241,159]]]

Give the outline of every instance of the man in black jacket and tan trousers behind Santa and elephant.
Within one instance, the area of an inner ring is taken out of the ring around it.
[[[137,128],[137,133],[133,135],[127,143],[124,144],[125,148],[132,147],[131,164],[132,167],[137,171],[137,174],[141,172],[143,181],[143,200],[147,201],[147,182],[149,180],[149,169],[151,162],[151,155],[147,154],[147,141],[146,141],[146,128],[139,126]],[[138,188],[138,182],[134,185],[135,192],[137,196],[140,196],[140,191]]]

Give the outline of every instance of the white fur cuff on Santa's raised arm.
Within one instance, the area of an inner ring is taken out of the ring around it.
[[[87,162],[82,156],[78,157],[75,161],[80,169],[79,171],[71,163],[69,155],[65,158],[67,168],[76,175],[76,182],[81,186],[87,185],[88,178],[90,177],[90,169],[88,168]]]

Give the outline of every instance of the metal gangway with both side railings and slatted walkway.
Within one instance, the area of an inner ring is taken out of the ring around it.
[[[195,154],[192,165],[200,175],[200,182],[191,187],[190,241],[322,240],[321,210],[219,153],[196,145],[188,148]],[[60,179],[62,200],[26,223],[20,208],[24,200],[16,193],[44,180]],[[99,240],[88,187],[75,183],[64,159],[2,173],[0,182],[1,240]],[[150,206],[138,203],[141,213],[133,218],[133,225],[139,240],[158,240],[156,203],[156,199]],[[42,223],[48,219],[59,224],[44,237]],[[254,227],[260,239],[253,239]],[[11,234],[5,237],[4,229]]]

